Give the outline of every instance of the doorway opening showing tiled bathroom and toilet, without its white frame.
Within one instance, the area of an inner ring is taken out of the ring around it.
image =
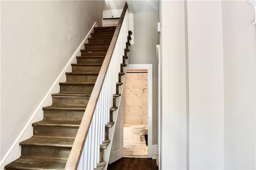
[[[148,70],[128,69],[123,92],[124,157],[148,158]]]

